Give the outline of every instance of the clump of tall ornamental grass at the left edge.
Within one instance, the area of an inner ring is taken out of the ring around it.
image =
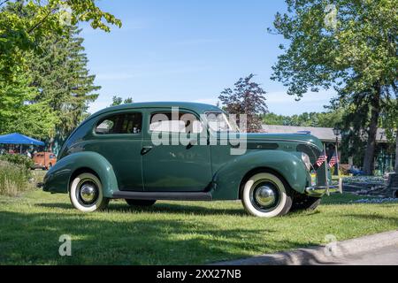
[[[15,196],[32,187],[30,172],[24,165],[0,160],[0,195]]]

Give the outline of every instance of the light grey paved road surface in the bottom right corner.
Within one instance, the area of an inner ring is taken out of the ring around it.
[[[368,253],[339,258],[333,264],[398,265],[398,246],[375,249]]]

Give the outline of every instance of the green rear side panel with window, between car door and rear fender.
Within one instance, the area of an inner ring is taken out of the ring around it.
[[[119,190],[142,191],[142,110],[108,113],[96,123],[94,139],[85,146],[112,165]]]

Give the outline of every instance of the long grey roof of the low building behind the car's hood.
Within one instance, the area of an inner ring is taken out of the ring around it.
[[[333,134],[332,127],[263,125],[263,130],[265,133],[270,134],[294,134],[307,132],[308,134],[315,135],[322,142],[336,142],[336,136]],[[339,141],[341,141],[341,135],[339,136]],[[378,129],[376,141],[388,142],[384,129]]]

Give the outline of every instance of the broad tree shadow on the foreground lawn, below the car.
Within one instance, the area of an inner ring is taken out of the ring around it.
[[[0,222],[1,264],[210,264],[302,245],[264,241],[272,230],[219,229],[180,219],[0,211]],[[72,237],[73,256],[58,254],[63,234]]]

